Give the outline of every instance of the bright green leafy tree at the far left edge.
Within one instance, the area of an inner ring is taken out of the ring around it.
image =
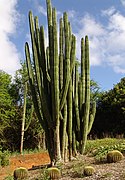
[[[16,109],[11,97],[11,76],[0,70],[0,143],[7,142],[6,129],[11,127],[11,121],[15,117]]]

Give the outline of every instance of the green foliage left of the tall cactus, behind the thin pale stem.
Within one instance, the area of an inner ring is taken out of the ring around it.
[[[27,80],[25,63],[21,63],[21,68],[16,71],[13,82],[11,76],[0,71],[0,144],[4,150],[17,151],[20,147],[20,131],[22,121],[23,106],[23,83]],[[26,129],[24,148],[34,149],[38,146],[43,129],[33,112],[31,118],[31,96],[28,84]],[[32,123],[30,123],[30,119]]]

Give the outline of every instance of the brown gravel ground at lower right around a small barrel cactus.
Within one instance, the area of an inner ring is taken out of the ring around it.
[[[84,162],[84,165],[92,165],[95,168],[95,173],[92,176],[85,177],[83,175],[83,166],[81,162]],[[81,163],[81,168],[80,168]],[[76,166],[79,166],[79,170],[72,168],[72,165],[65,165],[65,169],[62,172],[61,180],[125,180],[125,158],[117,163],[95,163],[93,158],[83,156],[80,157],[80,163]],[[75,163],[74,163],[75,164]],[[66,167],[67,166],[67,167]],[[71,168],[70,168],[71,167]],[[75,165],[74,165],[75,167]],[[68,168],[68,170],[66,170]],[[74,171],[73,171],[74,170]]]

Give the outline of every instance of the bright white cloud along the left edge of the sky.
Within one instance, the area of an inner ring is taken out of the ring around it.
[[[19,16],[16,11],[17,0],[0,1],[0,69],[14,75],[19,68],[19,54],[10,37],[16,32]]]

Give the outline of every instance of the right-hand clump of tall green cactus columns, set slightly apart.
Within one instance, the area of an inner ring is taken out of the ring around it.
[[[79,64],[75,67],[75,115],[76,130],[81,154],[85,151],[87,135],[90,133],[96,113],[96,103],[90,102],[90,63],[88,36],[81,39],[81,74]]]

